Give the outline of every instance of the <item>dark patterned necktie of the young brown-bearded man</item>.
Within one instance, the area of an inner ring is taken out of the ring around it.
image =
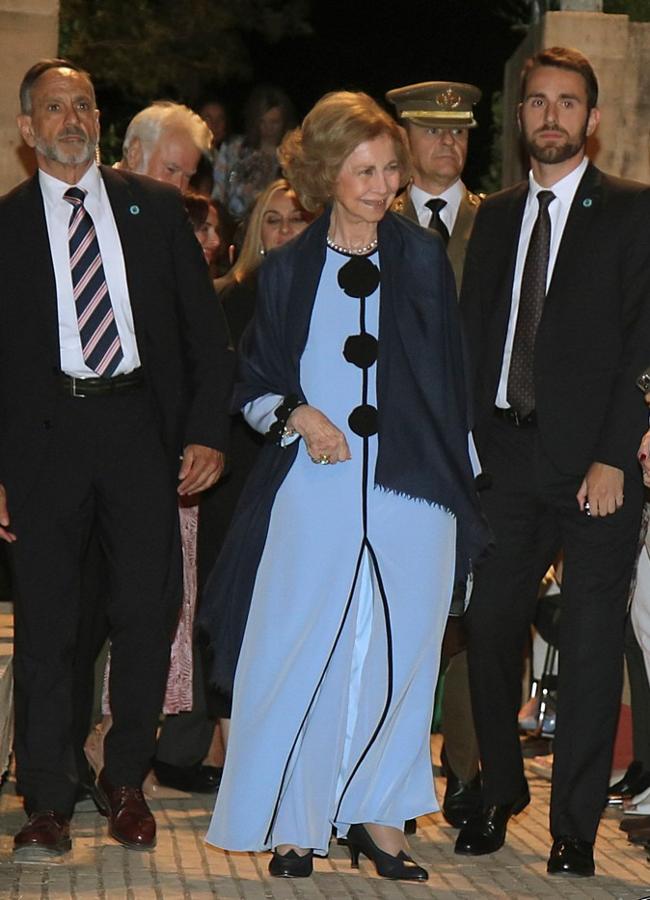
[[[540,191],[537,195],[539,209],[521,278],[517,326],[508,373],[508,403],[520,416],[527,416],[535,409],[535,338],[546,298],[551,248],[551,217],[548,207],[554,199],[553,191]]]

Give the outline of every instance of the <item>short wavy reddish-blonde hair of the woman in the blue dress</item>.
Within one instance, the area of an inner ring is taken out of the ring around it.
[[[282,171],[305,209],[313,212],[327,203],[347,157],[359,144],[383,134],[395,145],[403,186],[411,174],[404,129],[368,94],[336,91],[321,97],[278,150]]]

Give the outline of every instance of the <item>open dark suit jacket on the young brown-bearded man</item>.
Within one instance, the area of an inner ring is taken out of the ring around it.
[[[476,437],[494,421],[528,182],[488,197],[476,217],[461,291],[474,365]],[[650,189],[589,165],[569,211],[537,332],[540,439],[562,473],[594,461],[638,477],[647,428],[635,386],[650,362]]]

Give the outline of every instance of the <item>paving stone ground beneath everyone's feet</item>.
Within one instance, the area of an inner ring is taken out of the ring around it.
[[[151,802],[158,822],[158,846],[153,853],[120,847],[107,837],[106,820],[88,801],[72,825],[73,850],[50,865],[16,865],[12,835],[24,816],[13,784],[0,794],[0,900],[512,900],[536,898],[650,897],[650,864],[642,849],[632,847],[618,830],[620,815],[607,812],[596,843],[597,876],[587,879],[549,878],[548,780],[528,771],[533,802],[508,830],[508,842],[498,853],[458,857],[456,831],[437,813],[418,820],[411,839],[413,856],[429,869],[425,885],[390,882],[376,876],[362,858],[359,871],[350,869],[344,848],[335,844],[328,859],[315,862],[311,879],[270,878],[268,855],[224,853],[203,842],[212,798],[198,794]],[[438,783],[444,788],[444,782]]]

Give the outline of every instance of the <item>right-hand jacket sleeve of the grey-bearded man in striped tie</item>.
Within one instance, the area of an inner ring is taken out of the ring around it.
[[[172,248],[190,380],[183,444],[203,444],[226,452],[235,354],[200,245],[180,200]]]

